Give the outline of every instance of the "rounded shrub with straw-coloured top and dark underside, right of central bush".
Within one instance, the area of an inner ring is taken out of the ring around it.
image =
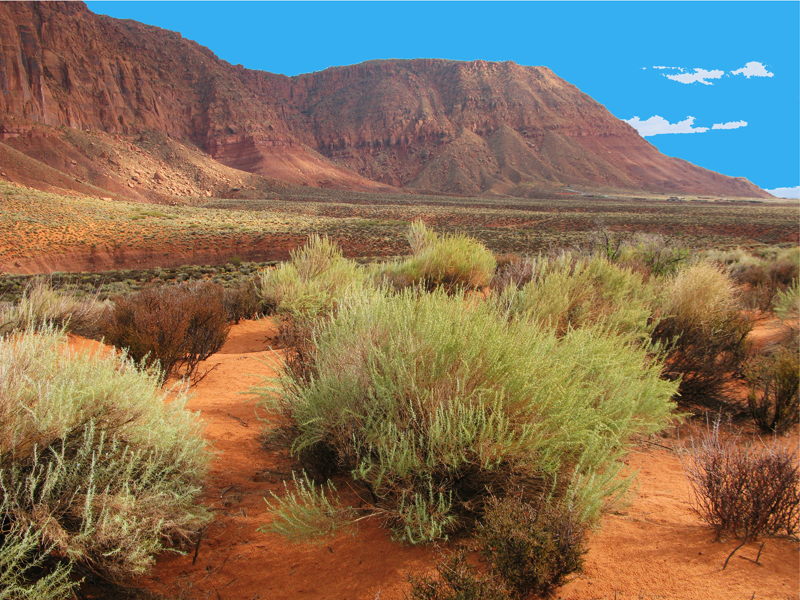
[[[661,314],[653,338],[669,346],[665,376],[680,379],[685,400],[721,399],[742,367],[752,329],[731,278],[709,263],[687,267],[666,284]]]

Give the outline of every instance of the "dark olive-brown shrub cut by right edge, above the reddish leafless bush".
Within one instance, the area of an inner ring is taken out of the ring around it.
[[[800,421],[800,357],[797,347],[779,348],[747,369],[747,406],[765,433],[782,434]]]

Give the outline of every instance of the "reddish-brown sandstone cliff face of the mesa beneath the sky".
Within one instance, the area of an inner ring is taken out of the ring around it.
[[[82,3],[0,3],[0,137],[33,123],[156,131],[228,167],[322,187],[765,195],[663,156],[545,67],[388,60],[289,78]]]

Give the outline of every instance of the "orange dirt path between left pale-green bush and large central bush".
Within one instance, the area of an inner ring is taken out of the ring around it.
[[[189,408],[208,422],[217,456],[202,502],[216,517],[193,554],[164,554],[154,572],[136,583],[167,598],[256,600],[380,597],[401,599],[407,573],[436,560],[431,548],[392,542],[386,529],[364,523],[356,536],[322,544],[291,544],[259,533],[269,520],[265,497],[291,480],[291,461],[263,449],[264,422],[255,396],[241,394],[274,376],[264,364],[274,328],[267,321],[236,325],[222,350],[201,369],[213,369],[197,386]]]

